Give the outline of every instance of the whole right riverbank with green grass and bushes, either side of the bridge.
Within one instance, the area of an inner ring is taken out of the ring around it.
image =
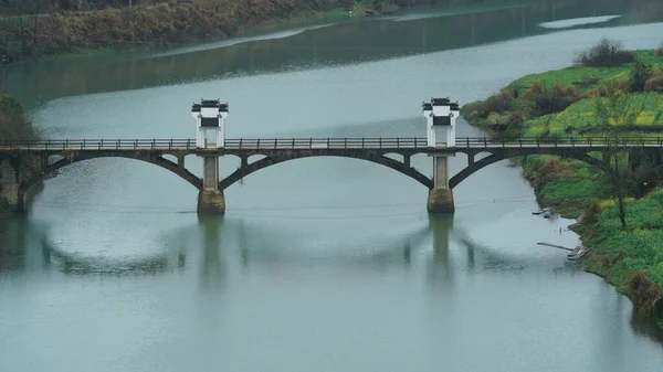
[[[580,55],[572,67],[522,77],[486,100],[465,105],[462,114],[494,137],[663,136],[663,47],[622,52],[624,61],[592,65]],[[530,156],[515,161],[541,205],[579,219],[572,228],[590,249],[585,269],[628,295],[640,313],[656,316],[663,328],[661,159],[613,156],[628,184],[577,160]]]

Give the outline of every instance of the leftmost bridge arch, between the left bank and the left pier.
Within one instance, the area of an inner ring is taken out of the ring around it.
[[[164,153],[164,156],[165,155],[171,155],[171,153]],[[183,167],[185,166],[183,157],[178,158],[181,161],[181,163],[178,163],[178,162],[175,162],[175,161],[164,158],[161,155],[156,156],[156,157],[155,156],[150,157],[150,156],[144,156],[139,152],[133,152],[133,153],[122,152],[122,153],[113,153],[113,155],[97,153],[97,152],[74,155],[73,152],[70,152],[70,153],[53,153],[52,156],[62,156],[62,159],[59,159],[57,161],[53,162],[52,164],[49,164],[48,158],[43,157],[41,160],[42,161],[41,172],[38,172],[38,173],[33,174],[31,178],[23,180],[21,182],[21,184],[20,184],[21,193],[24,193],[25,191],[30,190],[30,188],[32,188],[33,185],[35,185],[39,182],[44,181],[49,176],[53,174],[54,172],[56,172],[57,170],[60,170],[66,166],[71,166],[71,164],[74,164],[77,162],[93,160],[93,159],[102,159],[102,158],[122,158],[122,159],[131,159],[131,160],[139,160],[139,161],[144,161],[144,162],[148,162],[148,163],[158,166],[160,168],[164,168],[164,169],[179,176],[185,181],[187,181],[191,185],[193,185],[196,189],[202,190],[202,180]]]

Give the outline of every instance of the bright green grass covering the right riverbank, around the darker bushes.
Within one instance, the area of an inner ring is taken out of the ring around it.
[[[655,56],[654,51],[638,51],[636,56],[640,62],[652,64],[654,70],[663,70],[663,57]],[[493,100],[484,100],[465,105],[461,113],[471,124],[488,128],[491,117],[506,117],[511,111],[520,111],[525,119],[523,136],[601,136],[606,132],[606,127],[597,115],[597,103],[608,98],[592,97],[588,93],[601,86],[624,86],[630,78],[632,65],[610,68],[569,67],[527,75],[505,88],[512,94],[507,110],[494,114],[491,109],[498,106],[492,105]],[[534,103],[524,98],[525,91],[535,82],[541,82],[548,87],[556,84],[573,86],[581,99],[561,113],[537,116],[532,109]],[[518,93],[518,98],[514,98],[514,92]],[[634,123],[610,125],[622,125],[620,136],[663,137],[663,94],[628,95]],[[477,113],[483,115],[476,115]],[[623,126],[624,124],[628,126]],[[600,153],[596,156],[600,157]],[[624,159],[620,161],[625,166],[627,158],[622,158]],[[622,228],[617,203],[611,199],[612,188],[597,168],[578,160],[558,161],[550,156],[528,156],[523,168],[540,204],[555,206],[567,217],[579,217],[587,205],[596,203],[596,200],[600,201],[598,222],[591,226],[585,226],[582,222],[577,225],[585,245],[591,248],[586,262],[587,270],[606,277],[620,291],[631,295],[634,302],[642,304],[642,298],[646,299],[648,296],[631,293],[628,280],[630,274],[643,272],[649,280],[663,287],[663,187],[640,200],[627,200],[627,228]],[[659,171],[661,170],[659,167]],[[663,319],[659,319],[657,325],[663,328]]]

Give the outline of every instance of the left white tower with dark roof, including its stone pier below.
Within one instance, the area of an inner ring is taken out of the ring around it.
[[[201,99],[193,104],[191,116],[196,120],[196,148],[200,150],[225,147],[225,118],[228,103],[219,99]],[[198,193],[198,213],[222,214],[225,212],[223,190],[219,190],[219,155],[199,151],[202,158],[202,189]]]

